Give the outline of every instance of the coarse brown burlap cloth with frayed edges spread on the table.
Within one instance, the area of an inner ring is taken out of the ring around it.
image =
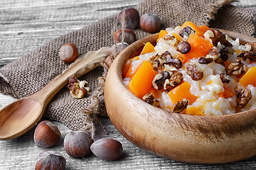
[[[231,6],[231,2],[232,0],[146,0],[135,8],[138,9],[140,15],[144,13],[158,15],[161,18],[161,28],[174,28],[185,21],[191,21],[196,25],[235,30],[247,35],[255,33],[252,17],[256,8],[237,8]],[[30,54],[7,64],[0,69],[1,93],[15,98],[33,94],[68,68],[69,64],[62,62],[58,55],[61,45],[72,42],[78,47],[80,54],[98,50],[100,47],[112,46],[112,31],[117,30],[119,26],[117,15],[107,17],[90,26],[51,40]],[[149,35],[139,28],[135,32],[138,39]],[[90,103],[95,102],[92,96],[97,91],[97,78],[102,76],[102,72],[102,67],[99,67],[79,78],[89,81],[92,88],[86,98],[72,98],[68,89],[61,89],[48,104],[44,116],[64,123],[71,130],[90,129],[93,123],[92,115],[107,115],[103,96],[100,96],[100,105],[92,109],[89,115],[81,111],[82,108],[86,109]]]

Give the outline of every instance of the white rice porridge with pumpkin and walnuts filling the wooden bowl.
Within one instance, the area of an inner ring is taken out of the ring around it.
[[[256,107],[256,42],[241,45],[218,29],[183,23],[124,63],[137,97],[173,113],[228,115]]]

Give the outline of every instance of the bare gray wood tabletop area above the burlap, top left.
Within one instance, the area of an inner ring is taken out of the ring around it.
[[[0,65],[141,1],[4,1],[0,6]]]

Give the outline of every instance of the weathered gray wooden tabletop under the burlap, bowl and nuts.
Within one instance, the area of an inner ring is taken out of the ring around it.
[[[127,6],[143,0],[0,0],[0,67],[18,57],[57,38],[59,35],[78,30],[110,16]],[[242,0],[236,6],[256,6],[255,0]],[[0,94],[0,108],[15,101],[15,98]],[[109,135],[99,127],[95,139],[110,137],[122,142],[124,157],[107,162],[93,154],[84,159],[74,159],[65,153],[63,138],[70,132],[65,125],[58,125],[62,137],[55,147],[44,149],[33,142],[33,131],[15,140],[0,141],[0,169],[34,169],[36,157],[44,150],[57,150],[67,160],[66,169],[256,169],[256,157],[242,162],[221,165],[187,164],[156,157],[139,149],[117,132],[108,118],[101,118]]]

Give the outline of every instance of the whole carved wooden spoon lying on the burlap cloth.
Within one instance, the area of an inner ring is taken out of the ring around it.
[[[11,140],[33,128],[41,119],[47,104],[68,84],[68,79],[80,77],[95,69],[109,55],[110,47],[80,55],[70,67],[59,74],[40,91],[9,104],[0,111],[0,140]]]

